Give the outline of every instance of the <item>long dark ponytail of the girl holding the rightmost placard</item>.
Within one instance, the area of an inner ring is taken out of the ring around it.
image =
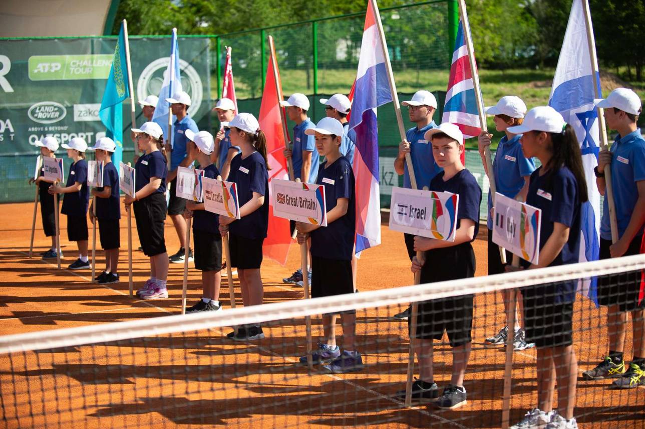
[[[553,174],[564,165],[571,170],[575,181],[578,183],[579,201],[581,203],[588,201],[589,195],[587,193],[587,181],[584,177],[584,167],[582,166],[580,143],[578,143],[578,138],[575,135],[573,127],[567,124],[564,126],[563,132],[548,134],[551,135],[553,156],[551,156],[551,159],[545,166],[548,170],[546,173],[546,186],[551,188]]]

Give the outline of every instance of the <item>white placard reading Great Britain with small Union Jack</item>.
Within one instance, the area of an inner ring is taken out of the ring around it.
[[[270,186],[273,215],[327,226],[324,185],[272,179]]]

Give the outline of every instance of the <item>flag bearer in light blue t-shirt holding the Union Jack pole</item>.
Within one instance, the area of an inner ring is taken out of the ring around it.
[[[528,181],[531,173],[535,171],[535,163],[532,158],[524,157],[522,154],[522,146],[520,145],[521,134],[513,134],[508,131],[508,128],[513,125],[522,125],[524,121],[524,114],[526,114],[526,105],[519,97],[514,95],[506,95],[502,97],[497,105],[486,108],[486,114],[494,115],[493,121],[495,122],[495,130],[504,132],[504,137],[497,145],[497,152],[495,152],[495,159],[493,160],[493,177],[495,177],[495,188],[500,194],[515,198],[519,201],[526,200],[526,192],[528,192]],[[479,135],[479,155],[486,168],[486,161],[484,159],[484,150],[486,146],[490,146],[490,139],[493,135],[488,132],[482,132]],[[504,265],[502,258],[499,255],[499,246],[493,243],[493,216],[491,214],[493,208],[493,195],[488,193],[488,274],[502,274],[504,272]],[[506,251],[506,260],[510,263],[513,259],[513,254]],[[508,298],[510,292],[505,289],[502,292],[502,299],[504,301],[504,314],[508,313]],[[522,315],[522,323],[524,322],[524,311],[522,306],[522,294],[518,291],[517,301],[519,303],[520,314]],[[533,343],[527,343],[524,334],[524,328],[520,327],[519,320],[515,318],[515,329],[513,337],[513,350],[525,350],[535,346]],[[506,344],[506,337],[508,336],[508,323],[499,332],[492,337],[486,339],[486,344]]]

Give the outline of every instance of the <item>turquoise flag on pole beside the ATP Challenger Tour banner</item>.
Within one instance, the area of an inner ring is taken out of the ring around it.
[[[128,87],[128,65],[125,58],[125,35],[123,23],[119,31],[117,46],[114,48],[112,67],[108,75],[108,83],[105,85],[99,117],[105,125],[106,135],[114,140],[116,148],[112,154],[112,163],[119,165],[123,159],[123,106],[124,99],[130,97]]]

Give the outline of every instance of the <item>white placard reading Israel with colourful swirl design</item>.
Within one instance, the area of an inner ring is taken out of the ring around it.
[[[443,241],[455,241],[459,195],[392,188],[390,229]]]

